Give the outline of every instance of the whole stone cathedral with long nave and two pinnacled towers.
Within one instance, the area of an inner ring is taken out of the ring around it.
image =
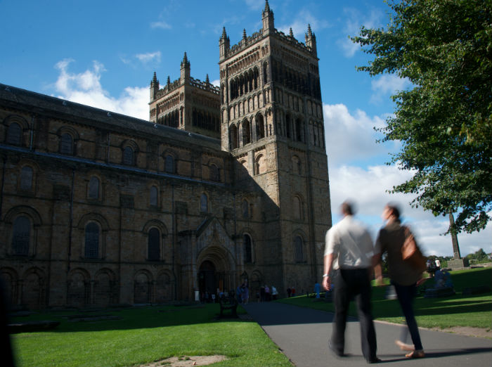
[[[0,84],[0,273],[15,307],[312,291],[331,226],[316,52],[219,39],[220,86],[150,82],[149,120]],[[177,64],[177,63],[176,63]],[[178,65],[176,65],[178,66]]]

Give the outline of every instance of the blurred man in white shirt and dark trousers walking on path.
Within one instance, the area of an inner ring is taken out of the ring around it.
[[[330,349],[337,356],[344,356],[347,313],[352,297],[357,302],[361,324],[361,347],[365,361],[377,363],[376,332],[370,304],[370,271],[373,269],[373,240],[365,227],[354,220],[350,202],[341,206],[343,219],[332,226],[325,236],[323,288],[332,288],[332,270],[335,276],[335,326]]]

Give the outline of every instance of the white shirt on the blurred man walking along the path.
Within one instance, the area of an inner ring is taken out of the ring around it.
[[[347,215],[325,236],[325,256],[335,254],[333,269],[362,269],[372,266],[373,239],[363,224]]]

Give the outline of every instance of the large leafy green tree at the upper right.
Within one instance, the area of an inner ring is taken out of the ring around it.
[[[453,231],[485,228],[492,209],[492,0],[387,1],[386,29],[361,27],[352,41],[374,56],[358,70],[408,79],[393,98],[381,141],[413,172],[392,192],[434,215],[458,212]],[[450,225],[451,227],[451,225]]]

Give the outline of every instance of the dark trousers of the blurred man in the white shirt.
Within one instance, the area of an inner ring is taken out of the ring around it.
[[[370,280],[368,269],[339,269],[335,278],[335,328],[332,333],[332,349],[344,354],[347,313],[353,297],[357,302],[361,323],[362,354],[366,360],[376,359],[376,332],[370,306]]]

